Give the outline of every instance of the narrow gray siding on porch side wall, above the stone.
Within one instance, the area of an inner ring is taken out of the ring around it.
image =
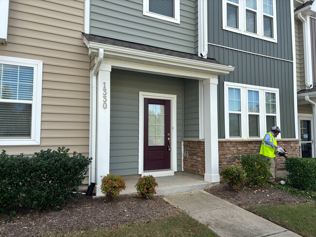
[[[199,138],[199,81],[183,80],[184,137]]]

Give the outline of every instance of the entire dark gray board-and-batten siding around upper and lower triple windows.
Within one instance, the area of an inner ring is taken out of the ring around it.
[[[276,3],[278,42],[273,43],[223,30],[222,1],[208,1],[208,57],[235,67],[218,77],[219,138],[225,138],[224,82],[279,88],[282,138],[295,138],[290,0]]]

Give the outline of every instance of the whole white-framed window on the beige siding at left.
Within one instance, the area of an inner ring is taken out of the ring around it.
[[[39,145],[42,64],[0,56],[0,145]]]

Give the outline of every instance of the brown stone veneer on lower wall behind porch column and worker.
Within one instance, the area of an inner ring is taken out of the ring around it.
[[[299,139],[278,139],[279,146],[282,146],[289,157],[299,157]],[[236,156],[242,154],[259,154],[262,139],[219,139],[218,140],[218,162],[219,172],[222,169],[239,165]],[[188,151],[188,157],[183,157],[184,171],[204,175],[204,139],[183,139],[183,151]],[[277,156],[278,169],[284,169],[284,157]]]

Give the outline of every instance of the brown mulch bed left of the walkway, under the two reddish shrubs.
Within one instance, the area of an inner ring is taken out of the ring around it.
[[[67,234],[96,226],[151,221],[181,213],[162,197],[144,200],[137,195],[120,195],[112,203],[105,197],[92,199],[81,196],[68,201],[61,211],[44,210],[37,213],[19,206],[12,207],[12,210],[17,211],[17,216],[10,222],[4,221],[8,215],[0,215],[1,237]]]

